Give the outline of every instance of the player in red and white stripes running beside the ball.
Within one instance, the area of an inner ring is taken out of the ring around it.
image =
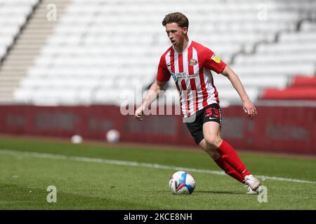
[[[221,61],[209,48],[187,36],[189,21],[182,13],[165,16],[162,25],[166,27],[172,45],[160,58],[157,79],[148,91],[147,97],[135,111],[136,120],[143,120],[142,113],[157,98],[166,82],[172,76],[180,94],[180,109],[187,129],[195,143],[208,153],[218,167],[237,181],[248,186],[249,194],[261,192],[261,183],[248,169],[227,141],[220,137],[222,120],[218,92],[213,83],[211,71],[226,76],[242,99],[244,113],[253,119],[257,112],[251,103],[237,74]],[[192,119],[195,118],[192,122]]]

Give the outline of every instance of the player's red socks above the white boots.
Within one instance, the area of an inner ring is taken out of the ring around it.
[[[220,158],[215,162],[226,174],[237,179],[239,182],[243,182],[244,177],[251,174],[251,172],[244,166],[242,160],[240,160],[234,148],[232,148],[228,142],[223,140],[217,150],[218,153],[220,153]]]

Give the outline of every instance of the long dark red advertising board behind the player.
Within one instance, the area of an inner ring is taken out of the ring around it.
[[[316,155],[314,107],[258,106],[250,120],[240,106],[222,109],[222,137],[235,148]],[[121,115],[118,106],[0,106],[0,133],[105,140],[119,130],[121,141],[194,146],[181,116]]]

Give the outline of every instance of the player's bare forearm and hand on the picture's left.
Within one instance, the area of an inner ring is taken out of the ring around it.
[[[143,120],[142,114],[143,111],[145,111],[150,104],[157,99],[157,96],[159,94],[159,91],[162,90],[162,88],[166,85],[166,81],[159,81],[159,80],[154,80],[154,83],[150,86],[150,90],[147,92],[147,96],[145,99],[143,99],[142,104],[136,109],[135,111],[135,119],[136,120]]]

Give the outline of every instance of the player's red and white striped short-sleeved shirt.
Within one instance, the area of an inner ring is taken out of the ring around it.
[[[219,104],[211,70],[221,73],[225,66],[225,62],[209,48],[189,41],[180,54],[173,46],[164,52],[158,66],[157,80],[163,82],[173,77],[183,117],[187,118],[209,104]]]

